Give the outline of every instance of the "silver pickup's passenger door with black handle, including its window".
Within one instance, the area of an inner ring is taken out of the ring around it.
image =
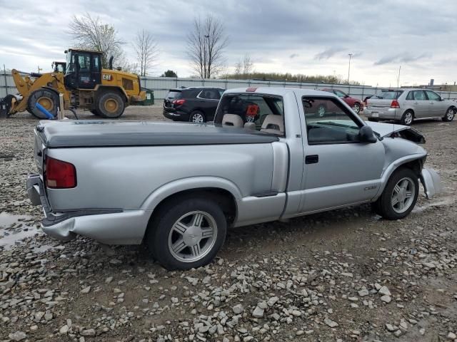
[[[318,115],[315,103],[326,103]],[[340,100],[305,96],[303,106],[303,177],[299,212],[318,212],[372,199],[384,163],[382,142],[358,141],[362,123]]]

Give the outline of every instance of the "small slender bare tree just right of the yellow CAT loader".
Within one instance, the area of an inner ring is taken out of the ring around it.
[[[148,70],[154,68],[154,63],[159,55],[157,43],[151,33],[143,29],[136,33],[134,48],[136,61],[140,67],[140,76],[146,76]]]

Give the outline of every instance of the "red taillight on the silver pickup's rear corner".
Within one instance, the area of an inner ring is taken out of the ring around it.
[[[69,162],[46,158],[46,187],[68,189],[76,187],[76,168]]]

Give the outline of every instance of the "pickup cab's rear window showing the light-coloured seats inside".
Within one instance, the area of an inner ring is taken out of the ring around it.
[[[229,94],[222,97],[214,123],[238,128],[249,123],[251,129],[283,136],[283,112],[283,98],[279,96]]]

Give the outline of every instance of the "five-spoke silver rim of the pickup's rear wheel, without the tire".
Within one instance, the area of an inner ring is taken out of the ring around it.
[[[169,251],[179,261],[198,261],[211,251],[216,237],[217,224],[214,217],[199,210],[188,212],[171,228]]]

